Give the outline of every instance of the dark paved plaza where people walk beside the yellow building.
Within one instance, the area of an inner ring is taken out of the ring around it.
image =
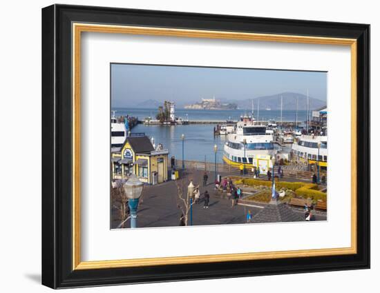
[[[231,200],[227,196],[220,196],[214,190],[215,174],[209,174],[207,186],[202,186],[204,171],[191,170],[189,173],[181,174],[184,178],[184,196],[187,194],[187,185],[190,179],[193,179],[194,185],[200,185],[200,203],[193,204],[193,225],[227,225],[245,223],[245,216],[248,210],[252,214],[259,212],[262,207],[260,205],[235,205],[231,208]],[[227,176],[227,174],[222,174]],[[285,180],[284,180],[285,181]],[[167,181],[158,185],[145,185],[142,198],[140,199],[139,208],[137,210],[137,227],[175,227],[180,223],[182,211],[178,208],[181,201],[178,198],[178,188],[175,183],[180,181]],[[203,208],[202,194],[207,190],[210,194],[209,208]],[[117,214],[117,210],[112,211]],[[325,217],[319,217],[323,220]],[[117,228],[120,221],[113,219],[111,226]],[[190,223],[190,220],[189,220]],[[130,221],[126,222],[129,227]]]

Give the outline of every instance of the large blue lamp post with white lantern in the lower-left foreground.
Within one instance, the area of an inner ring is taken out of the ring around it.
[[[129,210],[131,213],[131,228],[137,228],[137,207],[142,194],[143,183],[132,174],[123,185],[124,192],[128,198]]]

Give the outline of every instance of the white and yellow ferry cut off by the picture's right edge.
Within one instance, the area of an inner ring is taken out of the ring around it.
[[[327,136],[301,135],[292,144],[291,156],[294,161],[327,168]]]

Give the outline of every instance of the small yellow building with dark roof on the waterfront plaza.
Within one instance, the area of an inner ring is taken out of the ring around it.
[[[135,174],[148,184],[168,180],[169,150],[155,150],[144,134],[127,137],[122,148],[111,149],[112,179],[128,179]]]

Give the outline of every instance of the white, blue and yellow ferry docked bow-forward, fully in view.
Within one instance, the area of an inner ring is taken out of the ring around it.
[[[223,161],[229,165],[260,168],[260,174],[267,174],[272,168],[274,136],[267,133],[267,125],[255,125],[254,119],[244,117],[236,123],[235,132],[227,135]]]

